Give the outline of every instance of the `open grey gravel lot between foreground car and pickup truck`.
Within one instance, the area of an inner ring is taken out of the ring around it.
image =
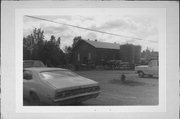
[[[76,71],[81,76],[99,82],[101,93],[81,105],[158,105],[158,78],[138,78],[134,71]],[[120,77],[125,74],[126,81]],[[29,105],[24,100],[24,105]]]

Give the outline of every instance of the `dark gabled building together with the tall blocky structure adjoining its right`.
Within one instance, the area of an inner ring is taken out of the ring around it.
[[[132,44],[120,45],[116,43],[98,42],[97,40],[78,40],[73,45],[73,64],[105,65],[110,60],[121,60],[136,64],[140,62],[141,46]]]

